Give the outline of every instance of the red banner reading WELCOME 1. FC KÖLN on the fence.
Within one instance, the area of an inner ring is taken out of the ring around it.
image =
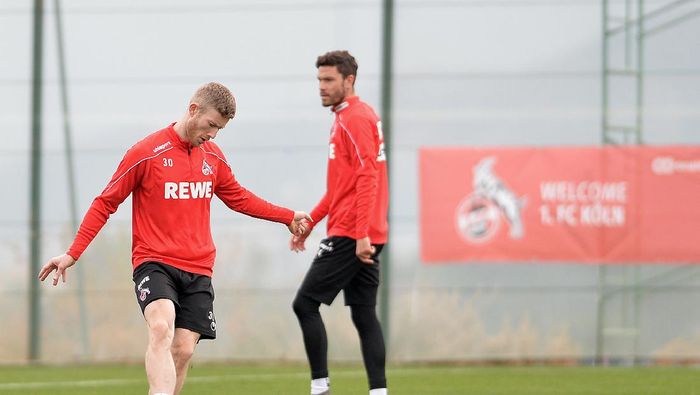
[[[700,263],[700,146],[425,148],[425,262]]]

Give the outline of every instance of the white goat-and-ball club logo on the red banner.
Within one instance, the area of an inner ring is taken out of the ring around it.
[[[502,219],[509,226],[511,239],[523,237],[522,208],[524,197],[517,197],[493,171],[496,158],[482,159],[472,172],[474,191],[457,206],[455,226],[469,243],[484,243],[498,233]]]

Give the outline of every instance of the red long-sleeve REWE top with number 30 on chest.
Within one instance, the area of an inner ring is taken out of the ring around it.
[[[136,143],[95,198],[80,224],[68,255],[80,255],[129,194],[132,207],[132,264],[158,261],[211,276],[216,247],[211,237],[210,205],[216,195],[240,213],[290,224],[294,212],[275,206],[243,188],[224,154],[211,141],[193,147],[174,124]]]

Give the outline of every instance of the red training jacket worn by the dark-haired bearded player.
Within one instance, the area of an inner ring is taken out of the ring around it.
[[[315,223],[328,215],[329,236],[387,241],[389,184],[382,123],[357,96],[333,108],[326,194],[311,212]]]

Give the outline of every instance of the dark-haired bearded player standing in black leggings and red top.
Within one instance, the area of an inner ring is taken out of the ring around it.
[[[377,320],[379,253],[387,240],[388,183],[379,117],[355,96],[357,62],[347,51],[318,57],[321,102],[335,122],[328,151],[326,194],[311,212],[314,223],[328,216],[327,235],[294,299],[294,312],[311,365],[311,394],[330,394],[326,330],[319,314],[340,290],[357,328],[370,395],[387,393],[385,349]],[[303,251],[313,224],[292,236]]]

